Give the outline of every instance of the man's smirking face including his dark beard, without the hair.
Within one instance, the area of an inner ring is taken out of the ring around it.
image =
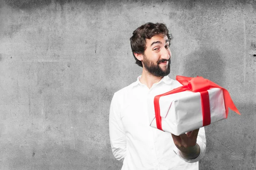
[[[146,39],[143,67],[156,77],[167,76],[170,73],[171,55],[168,37],[155,35],[151,39]]]

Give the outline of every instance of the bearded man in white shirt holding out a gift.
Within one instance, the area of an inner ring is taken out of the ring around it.
[[[116,159],[123,161],[122,170],[198,170],[204,156],[204,127],[175,136],[149,126],[148,97],[181,86],[167,76],[170,40],[163,23],[146,23],[130,38],[142,75],[114,94],[109,116],[111,148]]]

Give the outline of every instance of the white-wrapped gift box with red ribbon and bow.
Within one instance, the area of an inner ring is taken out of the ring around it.
[[[151,127],[180,135],[240,114],[228,91],[203,77],[177,76],[183,86],[148,99]]]

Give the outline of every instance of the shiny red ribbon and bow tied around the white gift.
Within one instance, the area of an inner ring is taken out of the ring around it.
[[[160,116],[160,107],[159,107],[159,99],[161,96],[166,96],[169,94],[175,94],[182,91],[192,91],[192,92],[200,92],[201,94],[201,104],[202,104],[202,116],[203,116],[203,126],[209,125],[211,122],[210,116],[210,105],[209,105],[209,94],[208,89],[210,88],[221,88],[223,90],[224,103],[226,109],[226,118],[228,115],[228,108],[232,111],[236,112],[240,115],[236,105],[233,103],[229,92],[222,88],[221,86],[211,82],[208,79],[204,79],[203,77],[184,77],[184,76],[176,76],[176,80],[180,82],[183,86],[179,88],[175,88],[172,91],[166,92],[164,94],[160,94],[154,97],[154,109],[155,109],[155,117],[157,122],[157,129],[162,129],[162,119]]]

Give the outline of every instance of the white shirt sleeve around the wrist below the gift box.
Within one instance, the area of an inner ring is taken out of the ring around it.
[[[180,157],[180,159],[188,162],[188,163],[194,163],[199,161],[200,159],[202,159],[204,157],[205,151],[206,151],[206,137],[205,137],[205,130],[204,127],[201,127],[199,129],[198,132],[198,137],[197,137],[197,141],[196,143],[199,145],[200,147],[200,154],[198,157],[196,157],[195,159],[184,159],[181,155],[180,155],[180,150],[175,146],[173,151],[177,154],[177,156]]]

